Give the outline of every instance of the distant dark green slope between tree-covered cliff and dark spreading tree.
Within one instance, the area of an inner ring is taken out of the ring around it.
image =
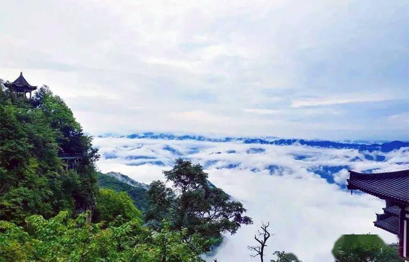
[[[117,192],[128,193],[133,200],[134,205],[142,212],[146,212],[149,208],[148,191],[144,188],[133,187],[115,177],[103,173],[98,173],[98,186],[100,188],[112,189]]]

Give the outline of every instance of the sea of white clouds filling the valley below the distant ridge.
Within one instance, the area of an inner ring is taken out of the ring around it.
[[[341,234],[379,234],[385,242],[395,235],[374,227],[384,201],[345,187],[348,169],[371,172],[408,167],[409,148],[390,152],[311,147],[300,144],[245,144],[169,139],[97,137],[102,172],[121,172],[149,184],[164,179],[178,157],[200,163],[209,180],[244,204],[253,225],[226,235],[208,261],[257,261],[248,245],[261,222],[269,221],[265,259],[275,250],[295,253],[304,262],[333,261],[331,249]]]

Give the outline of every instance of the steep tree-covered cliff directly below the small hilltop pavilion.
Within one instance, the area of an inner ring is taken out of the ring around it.
[[[98,154],[71,110],[46,86],[30,102],[0,84],[0,217],[21,225],[31,214],[93,210]],[[63,162],[61,153],[81,158]]]

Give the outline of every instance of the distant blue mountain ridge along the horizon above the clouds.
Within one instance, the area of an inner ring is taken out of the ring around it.
[[[269,144],[269,145],[306,145],[311,147],[335,148],[335,149],[358,149],[359,151],[381,151],[390,152],[402,147],[409,147],[409,142],[392,141],[385,143],[358,143],[358,142],[336,142],[329,140],[305,140],[305,139],[279,139],[277,137],[221,137],[210,138],[200,135],[173,135],[165,133],[139,133],[127,136],[100,135],[98,137],[123,137],[130,139],[163,139],[163,140],[196,140],[207,142],[241,142],[243,144]]]

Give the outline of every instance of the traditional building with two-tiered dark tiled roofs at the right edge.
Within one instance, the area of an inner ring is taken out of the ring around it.
[[[363,174],[349,171],[347,188],[360,190],[386,201],[374,225],[396,234],[399,253],[409,258],[409,170]]]

